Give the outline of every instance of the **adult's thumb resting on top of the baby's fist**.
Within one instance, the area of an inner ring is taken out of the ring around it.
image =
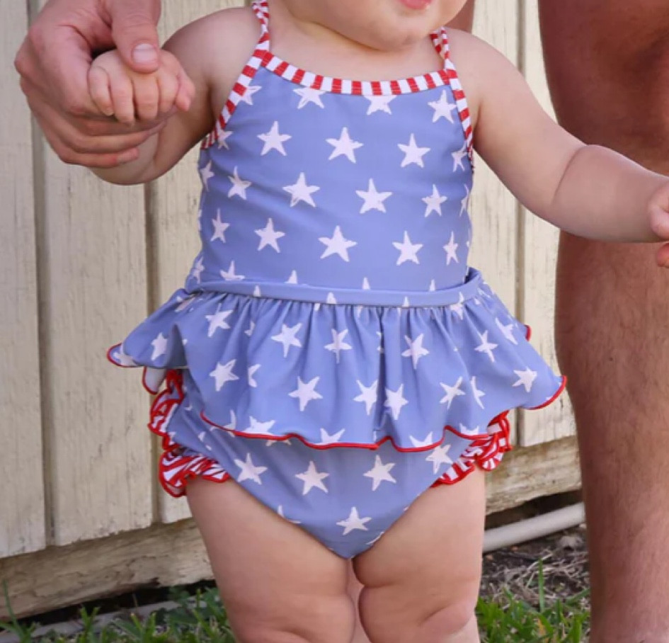
[[[155,72],[160,0],[107,0],[107,8],[112,38],[122,59],[135,72]]]

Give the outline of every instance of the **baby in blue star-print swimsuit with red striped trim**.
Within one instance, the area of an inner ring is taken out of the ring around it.
[[[442,26],[463,4],[256,0],[183,28],[156,74],[93,62],[103,113],[181,108],[99,176],[151,181],[201,142],[202,249],[109,358],[157,393],[160,482],[188,489],[241,641],[350,641],[348,559],[374,643],[478,640],[481,471],[564,379],[467,264],[474,147],[561,229],[668,232],[665,179],[555,125]]]

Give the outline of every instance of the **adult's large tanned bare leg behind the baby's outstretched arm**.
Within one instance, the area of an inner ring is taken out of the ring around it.
[[[540,8],[561,124],[669,173],[666,1]],[[593,643],[669,641],[669,273],[653,251],[560,245],[556,335],[583,463]]]

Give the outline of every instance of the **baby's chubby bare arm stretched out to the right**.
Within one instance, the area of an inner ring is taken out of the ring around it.
[[[580,237],[669,239],[668,178],[571,136],[503,55],[467,34],[451,40],[476,150],[521,203]]]

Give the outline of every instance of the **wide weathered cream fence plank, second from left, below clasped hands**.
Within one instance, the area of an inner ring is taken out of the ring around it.
[[[147,313],[144,188],[110,186],[43,148],[45,453],[53,544],[66,545],[152,520],[141,373],[105,358]]]

